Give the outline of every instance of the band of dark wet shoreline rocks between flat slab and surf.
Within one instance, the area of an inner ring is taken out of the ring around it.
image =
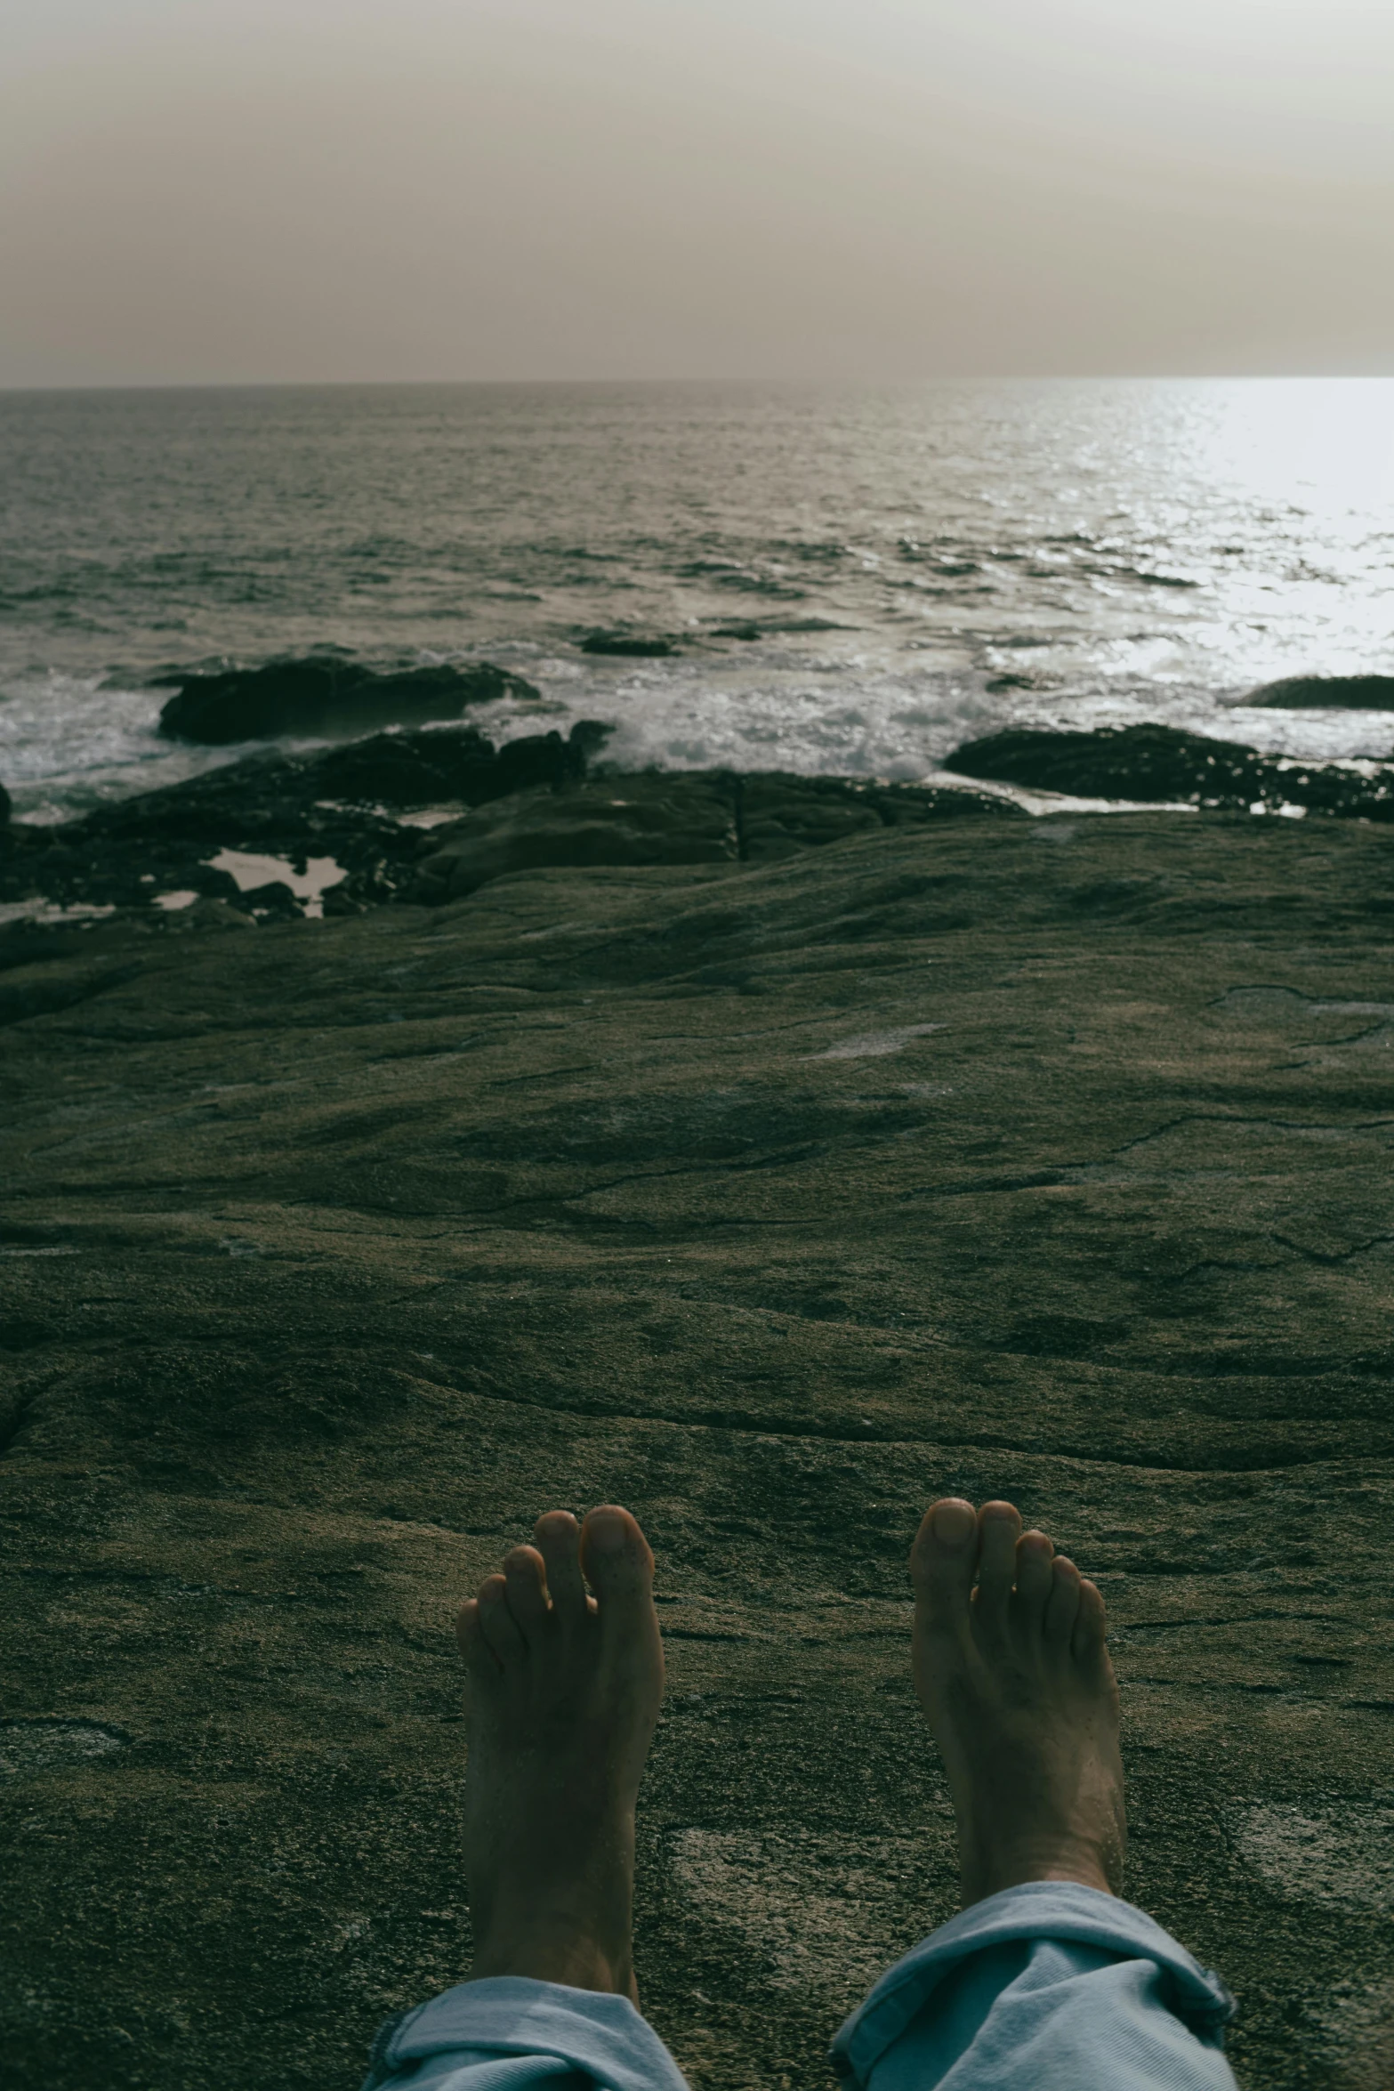
[[[995,734],[947,757],[936,784],[619,772],[604,757],[608,732],[581,721],[564,740],[529,734],[495,749],[466,723],[395,728],[316,755],[251,755],[61,826],[0,820],[0,905],[215,899],[255,920],[433,905],[541,866],[769,864],[878,828],[1020,818],[993,784],[1394,820],[1394,763],[1300,763],[1164,726]],[[255,859],[263,876],[230,870],[219,861],[230,855]],[[322,884],[309,880],[311,864],[324,868]]]

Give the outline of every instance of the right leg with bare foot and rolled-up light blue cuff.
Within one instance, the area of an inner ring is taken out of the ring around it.
[[[1103,1600],[1012,1503],[934,1503],[913,1673],[963,1911],[876,1984],[832,2062],[859,2091],[1233,2091],[1223,1982],[1129,1903]]]

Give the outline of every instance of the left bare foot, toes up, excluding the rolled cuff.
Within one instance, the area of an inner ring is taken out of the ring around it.
[[[522,1974],[637,2003],[633,1807],[663,1700],[654,1556],[612,1503],[583,1526],[550,1510],[533,1537],[456,1623],[468,1980]]]

